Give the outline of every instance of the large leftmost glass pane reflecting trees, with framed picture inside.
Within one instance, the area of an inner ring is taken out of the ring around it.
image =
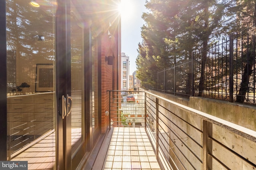
[[[55,0],[6,0],[8,160],[54,169]]]

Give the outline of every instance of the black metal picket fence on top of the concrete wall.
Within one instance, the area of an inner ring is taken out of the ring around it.
[[[203,96],[254,104],[254,35],[231,34],[229,39],[210,44],[206,57],[204,52],[194,51],[191,59],[154,75],[155,84],[144,79],[141,86],[176,96]]]

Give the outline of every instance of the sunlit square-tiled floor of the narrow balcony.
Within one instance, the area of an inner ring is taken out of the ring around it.
[[[160,170],[144,128],[114,127],[104,170]]]

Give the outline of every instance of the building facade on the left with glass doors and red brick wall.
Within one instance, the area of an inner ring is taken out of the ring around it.
[[[86,162],[120,90],[119,1],[0,1],[0,160]]]

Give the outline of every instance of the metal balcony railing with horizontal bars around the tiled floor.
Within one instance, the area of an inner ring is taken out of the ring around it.
[[[161,169],[256,168],[256,131],[150,92],[131,93],[135,102],[109,91],[110,128],[144,126]]]

